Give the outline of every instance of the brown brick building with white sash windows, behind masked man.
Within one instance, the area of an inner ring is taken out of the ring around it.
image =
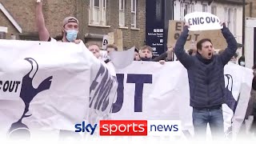
[[[35,2],[0,0],[0,38],[38,40]],[[44,0],[43,3],[46,27],[52,37],[61,35],[63,18],[74,16],[80,22],[78,38],[85,42],[102,42],[104,34],[120,29],[123,46],[144,45],[146,0]]]

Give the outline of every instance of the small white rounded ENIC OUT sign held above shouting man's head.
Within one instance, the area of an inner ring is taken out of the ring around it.
[[[206,12],[194,12],[186,14],[185,21],[190,24],[190,31],[198,30],[220,30],[220,20],[214,14]]]

